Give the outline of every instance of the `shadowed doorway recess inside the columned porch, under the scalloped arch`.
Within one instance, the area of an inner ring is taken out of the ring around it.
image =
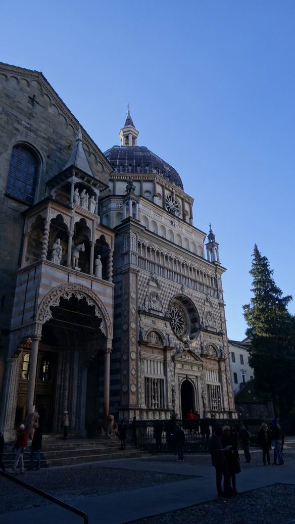
[[[60,432],[66,409],[72,432],[83,434],[86,430],[94,436],[97,421],[103,415],[103,315],[89,298],[71,292],[67,298],[61,296],[58,305],[51,305],[50,313],[51,318],[42,326],[34,397],[43,431]],[[26,350],[18,411],[23,409],[27,396],[29,359],[30,350]]]

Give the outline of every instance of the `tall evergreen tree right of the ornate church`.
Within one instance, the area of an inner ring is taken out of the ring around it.
[[[280,417],[288,417],[295,398],[295,318],[287,309],[291,295],[272,278],[269,261],[254,246],[252,269],[254,297],[243,306],[250,337],[249,364],[254,369],[258,391],[278,403]]]

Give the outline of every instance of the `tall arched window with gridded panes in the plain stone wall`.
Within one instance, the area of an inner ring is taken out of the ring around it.
[[[14,146],[10,157],[6,193],[28,204],[34,203],[38,164],[37,155],[28,146]]]

